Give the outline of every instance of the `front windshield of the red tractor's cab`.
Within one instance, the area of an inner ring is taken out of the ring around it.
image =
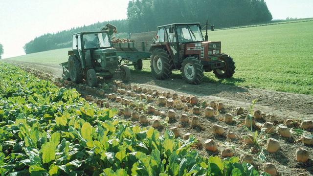
[[[201,30],[198,25],[179,25],[176,30],[179,43],[203,41]]]

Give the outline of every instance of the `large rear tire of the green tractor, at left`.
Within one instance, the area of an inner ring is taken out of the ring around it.
[[[75,55],[70,55],[68,57],[68,69],[71,81],[75,83],[83,82],[82,66]]]

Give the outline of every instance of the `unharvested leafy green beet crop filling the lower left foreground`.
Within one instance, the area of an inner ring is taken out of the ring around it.
[[[201,156],[192,135],[132,125],[19,67],[0,63],[0,79],[3,176],[259,175],[238,157]]]

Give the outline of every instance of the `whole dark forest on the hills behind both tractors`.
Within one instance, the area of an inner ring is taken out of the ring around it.
[[[109,21],[119,33],[156,30],[173,22],[201,22],[206,19],[217,28],[269,22],[272,20],[264,0],[131,0],[127,20]],[[36,37],[24,45],[26,54],[71,46],[71,35],[99,30],[108,22],[72,28]]]

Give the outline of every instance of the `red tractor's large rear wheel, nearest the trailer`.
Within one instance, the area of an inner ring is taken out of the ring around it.
[[[152,52],[150,67],[156,79],[163,80],[172,74],[173,61],[167,51],[157,48]]]

